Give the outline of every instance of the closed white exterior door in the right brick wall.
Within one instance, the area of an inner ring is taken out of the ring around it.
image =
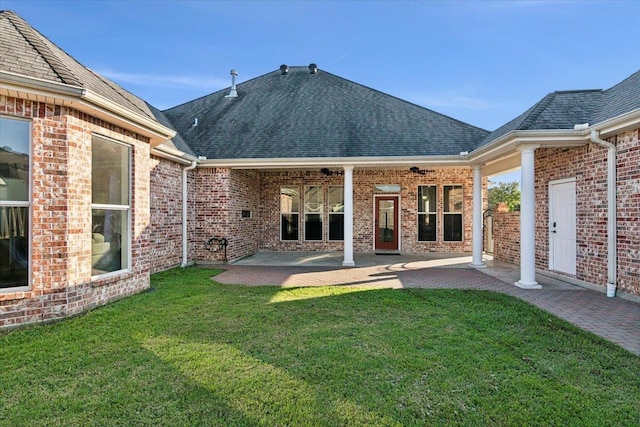
[[[576,274],[575,179],[549,183],[549,269]]]

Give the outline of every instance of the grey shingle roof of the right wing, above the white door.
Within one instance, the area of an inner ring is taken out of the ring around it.
[[[573,129],[596,125],[640,108],[640,71],[607,90],[552,92],[536,105],[487,135],[480,145],[515,130]]]

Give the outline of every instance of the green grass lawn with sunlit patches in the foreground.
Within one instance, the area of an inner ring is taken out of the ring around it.
[[[212,270],[0,335],[1,426],[638,425],[640,358],[482,291]]]

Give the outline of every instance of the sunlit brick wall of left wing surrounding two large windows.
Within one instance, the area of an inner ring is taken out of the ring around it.
[[[149,287],[149,144],[66,107],[0,97],[0,113],[32,122],[32,281],[0,291],[0,328],[69,316]],[[131,271],[91,280],[92,133],[132,146]]]

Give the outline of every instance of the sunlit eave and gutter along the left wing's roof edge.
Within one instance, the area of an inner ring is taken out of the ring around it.
[[[0,71],[0,94],[76,108],[149,138],[157,146],[176,135],[154,119],[124,108],[85,88]]]

